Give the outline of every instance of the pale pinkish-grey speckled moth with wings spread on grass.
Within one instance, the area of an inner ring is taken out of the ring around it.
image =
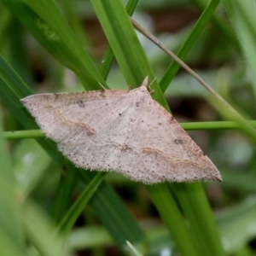
[[[76,166],[143,183],[222,178],[212,161],[155,102],[148,78],[135,90],[38,94],[21,102]]]

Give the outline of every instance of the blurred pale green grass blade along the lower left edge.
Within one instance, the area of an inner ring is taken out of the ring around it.
[[[0,254],[18,255],[19,252],[19,255],[26,255],[19,191],[3,141],[2,120],[0,111]]]

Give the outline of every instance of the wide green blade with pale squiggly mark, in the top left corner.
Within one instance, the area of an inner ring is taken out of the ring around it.
[[[2,0],[56,60],[77,74],[87,90],[105,85],[90,56],[51,0]],[[45,11],[47,10],[47,11]],[[97,82],[98,81],[98,82]]]

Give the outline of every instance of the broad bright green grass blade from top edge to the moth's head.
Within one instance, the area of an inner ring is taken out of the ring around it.
[[[149,82],[151,82],[154,79],[154,73],[123,4],[119,0],[110,2],[93,0],[91,3],[127,84],[133,87],[142,84],[146,76],[149,76]],[[155,81],[152,84],[152,89],[154,90],[152,94],[154,99],[168,108],[166,100],[160,92],[160,87]]]

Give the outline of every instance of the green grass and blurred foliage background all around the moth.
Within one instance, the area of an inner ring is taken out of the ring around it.
[[[256,115],[255,11],[253,0],[1,0],[0,255],[256,255],[256,132],[245,120]],[[127,90],[147,75],[222,183],[149,186],[80,170],[20,103],[99,83]]]

